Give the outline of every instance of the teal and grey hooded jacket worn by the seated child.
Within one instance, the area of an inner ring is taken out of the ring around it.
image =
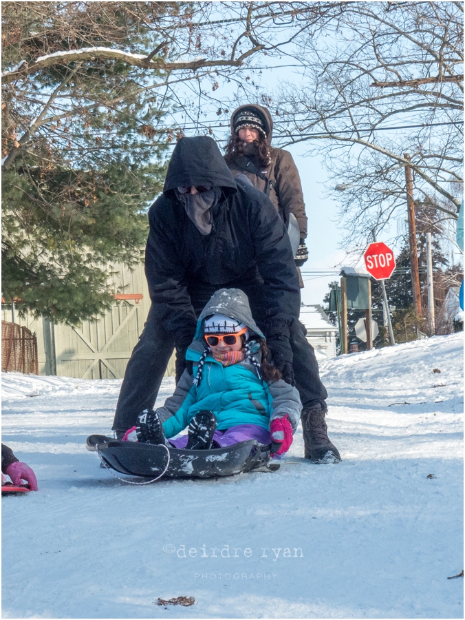
[[[186,353],[186,360],[193,362],[193,372],[188,369],[184,371],[173,396],[157,409],[165,437],[174,437],[183,431],[202,409],[215,413],[219,431],[239,424],[257,424],[269,429],[270,420],[288,415],[295,432],[302,409],[299,392],[282,379],[270,382],[261,380],[250,360],[223,366],[208,354],[204,360],[202,379],[198,386],[193,385],[205,349],[202,323],[206,316],[215,313],[244,322],[252,334],[263,338],[243,291],[219,289],[213,294],[200,313],[195,338]],[[261,362],[261,350],[257,343],[250,342],[250,351],[255,361]]]

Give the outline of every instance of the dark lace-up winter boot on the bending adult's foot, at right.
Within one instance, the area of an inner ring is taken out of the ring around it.
[[[325,422],[326,408],[318,402],[302,410],[302,433],[305,458],[317,464],[338,463],[340,455],[329,441]]]

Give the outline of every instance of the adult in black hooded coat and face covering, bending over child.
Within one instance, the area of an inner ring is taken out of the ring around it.
[[[117,436],[153,407],[173,347],[180,378],[197,316],[221,288],[246,293],[274,364],[288,382],[295,377],[303,407],[319,409],[326,433],[327,392],[299,322],[290,240],[265,194],[232,177],[212,138],[181,138],[163,194],[149,211],[149,225],[145,273],[152,305],[122,382],[113,422]],[[327,462],[339,455],[327,440],[327,446],[315,444],[307,457]]]

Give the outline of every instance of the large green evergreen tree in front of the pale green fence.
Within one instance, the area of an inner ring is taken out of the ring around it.
[[[78,3],[4,3],[3,65],[123,36],[129,48],[144,41],[142,19],[128,24],[120,3],[105,5],[99,18],[97,6],[89,17]],[[69,30],[56,28],[54,11],[68,14]],[[94,31],[90,18],[100,19]],[[139,71],[75,61],[3,88],[3,155],[19,152],[2,175],[2,296],[19,300],[20,311],[69,324],[91,319],[113,302],[108,265],[142,258],[147,207],[165,174],[167,107],[138,92],[149,83]],[[44,112],[47,131],[37,126],[20,148],[19,135]]]

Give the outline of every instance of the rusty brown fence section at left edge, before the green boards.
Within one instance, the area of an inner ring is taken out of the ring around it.
[[[27,327],[1,322],[1,371],[39,374],[37,338]]]

